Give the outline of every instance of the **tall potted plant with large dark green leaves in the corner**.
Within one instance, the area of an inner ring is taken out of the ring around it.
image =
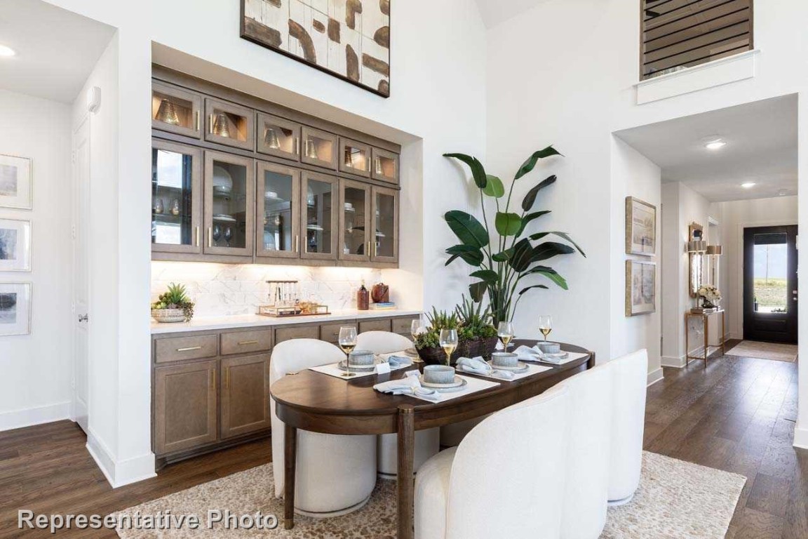
[[[466,212],[455,210],[446,213],[444,218],[449,228],[461,241],[459,245],[451,246],[446,250],[446,253],[451,255],[446,265],[448,266],[455,259],[460,258],[469,266],[478,268],[471,276],[480,280],[471,284],[469,292],[474,301],[481,301],[482,297],[487,293],[494,326],[499,322],[514,318],[516,307],[519,305],[520,299],[524,297],[524,293],[527,293],[532,288],[547,288],[545,284],[532,284],[521,289],[517,288],[520,280],[524,277],[544,276],[566,290],[566,280],[558,275],[558,272],[553,270],[552,267],[534,264],[544,262],[556,255],[569,255],[576,250],[581,255],[586,256],[578,244],[564,232],[537,232],[520,239],[531,221],[549,213],[549,210],[532,212],[531,209],[536,202],[539,191],[555,183],[555,175],[549,176],[527,192],[522,200],[521,214],[511,213],[510,211],[511,195],[516,181],[532,171],[539,159],[549,158],[553,155],[561,154],[553,146],[548,146],[534,152],[520,166],[511,183],[505,207],[499,208],[499,200],[497,201],[498,211],[494,218],[497,235],[494,236],[494,246],[492,246],[485,210],[485,196],[490,196],[494,199],[500,199],[505,196],[505,186],[502,180],[493,175],[486,175],[485,168],[477,158],[465,154],[444,154],[444,157],[457,158],[471,169],[474,183],[480,190],[480,204],[484,217],[483,222],[480,223],[476,217]],[[532,242],[537,242],[549,234],[554,234],[570,242],[574,247],[558,242],[532,244]]]

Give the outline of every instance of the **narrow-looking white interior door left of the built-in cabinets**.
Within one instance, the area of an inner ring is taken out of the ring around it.
[[[89,305],[90,264],[87,230],[90,218],[90,118],[73,136],[73,417],[84,432],[90,410]]]

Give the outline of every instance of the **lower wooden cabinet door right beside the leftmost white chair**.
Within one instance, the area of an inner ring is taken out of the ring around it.
[[[269,354],[221,360],[221,437],[270,426]]]

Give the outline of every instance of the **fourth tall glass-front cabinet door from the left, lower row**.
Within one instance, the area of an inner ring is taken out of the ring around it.
[[[339,180],[316,172],[303,172],[301,205],[301,258],[335,259]]]

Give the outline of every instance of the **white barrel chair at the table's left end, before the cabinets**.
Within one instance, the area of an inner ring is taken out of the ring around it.
[[[272,349],[270,384],[304,368],[335,363],[345,355],[333,344],[291,339]],[[326,375],[323,375],[326,376]],[[275,495],[284,495],[284,423],[271,404],[272,470]],[[376,486],[376,436],[335,436],[297,431],[295,512],[338,516],[367,503]]]

